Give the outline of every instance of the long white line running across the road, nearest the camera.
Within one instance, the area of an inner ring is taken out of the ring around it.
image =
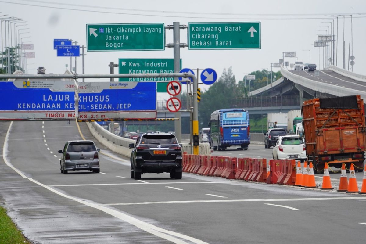
[[[101,205],[141,205],[141,204],[172,204],[172,203],[222,203],[222,202],[292,202],[292,201],[325,201],[325,200],[365,200],[365,196],[356,197],[335,197],[335,198],[285,198],[285,199],[232,199],[232,200],[186,200],[186,201],[165,201],[165,202],[135,202],[135,203],[107,203]]]

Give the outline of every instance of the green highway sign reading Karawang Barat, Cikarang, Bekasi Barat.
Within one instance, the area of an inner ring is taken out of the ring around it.
[[[261,49],[261,22],[188,23],[188,49]]]

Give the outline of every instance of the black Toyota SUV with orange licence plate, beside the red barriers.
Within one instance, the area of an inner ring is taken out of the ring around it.
[[[182,144],[173,134],[142,134],[131,152],[131,178],[141,179],[143,173],[169,172],[171,178],[182,179]]]

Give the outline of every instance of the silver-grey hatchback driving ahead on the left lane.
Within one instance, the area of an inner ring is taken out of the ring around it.
[[[72,140],[66,142],[61,153],[60,169],[61,173],[67,174],[68,170],[89,170],[94,173],[100,172],[99,155],[91,140]]]

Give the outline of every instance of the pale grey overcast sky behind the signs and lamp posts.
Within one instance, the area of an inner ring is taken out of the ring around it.
[[[16,4],[18,3],[18,4]],[[34,6],[32,6],[34,5]],[[44,7],[42,7],[44,6]],[[132,9],[128,10],[128,9]],[[83,10],[83,11],[80,11]],[[98,12],[99,11],[99,12]],[[181,48],[182,66],[191,69],[213,68],[220,76],[224,68],[232,67],[236,80],[251,71],[270,70],[270,63],[279,62],[282,52],[296,52],[297,61],[318,65],[318,48],[314,47],[317,34],[325,34],[319,26],[330,26],[328,14],[354,14],[354,17],[366,17],[357,13],[366,13],[365,0],[186,0],[186,1],[125,1],[125,0],[0,0],[0,15],[8,14],[27,21],[34,44],[35,59],[29,59],[29,74],[36,74],[36,68],[43,66],[46,73],[63,73],[65,64],[70,65],[70,58],[57,57],[53,50],[53,39],[64,38],[78,41],[86,46],[86,24],[97,23],[165,23],[172,25],[180,22],[261,22],[260,50],[188,50]],[[211,13],[211,14],[206,14]],[[256,14],[256,15],[253,15]],[[272,15],[271,15],[272,14]],[[153,15],[153,16],[149,16]],[[4,17],[0,17],[4,18]],[[303,19],[296,19],[303,18]],[[20,24],[19,24],[20,25]],[[366,18],[353,18],[353,54],[354,72],[366,75]],[[335,32],[336,32],[335,19]],[[21,29],[21,27],[18,27]],[[25,32],[25,30],[23,30]],[[338,67],[342,67],[343,53],[343,17],[338,23]],[[337,38],[337,37],[336,37]],[[345,20],[346,55],[351,41],[351,19]],[[173,42],[173,31],[166,30],[166,43]],[[187,43],[187,30],[181,30],[180,42]],[[86,74],[109,73],[109,62],[118,62],[119,58],[173,58],[173,49],[164,51],[139,52],[87,52],[85,56]],[[321,52],[321,63],[322,63]],[[296,58],[285,59],[294,63]],[[74,60],[73,66],[74,66]],[[81,58],[78,59],[77,72],[81,72]],[[320,68],[323,65],[320,64]],[[347,66],[346,66],[347,68]],[[278,71],[279,68],[274,68]],[[117,68],[115,69],[117,73]]]

